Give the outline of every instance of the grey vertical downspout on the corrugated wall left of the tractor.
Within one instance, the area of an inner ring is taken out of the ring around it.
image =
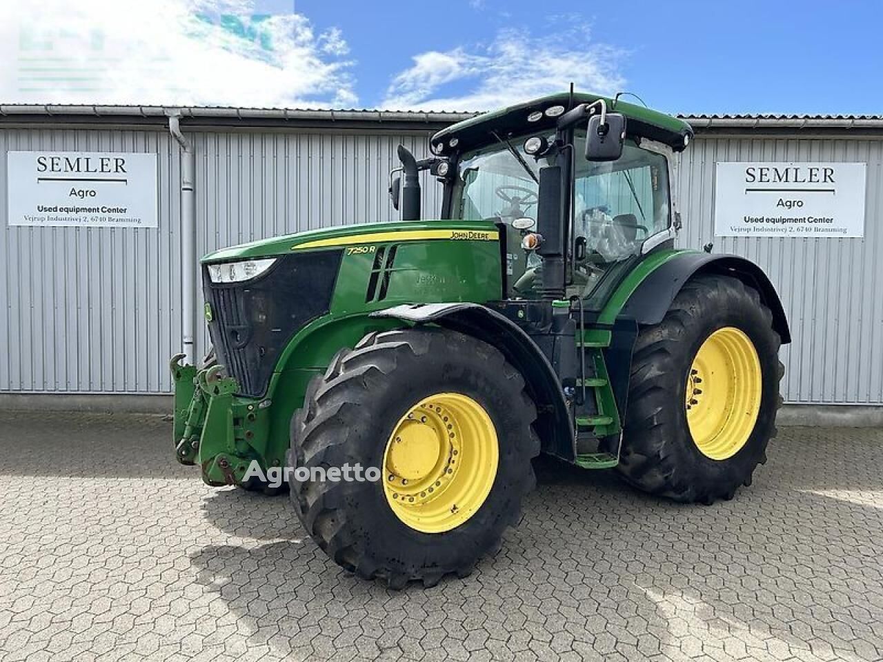
[[[169,112],[169,132],[181,146],[181,344],[185,362],[194,364],[193,335],[196,320],[196,155],[181,133],[180,112]]]

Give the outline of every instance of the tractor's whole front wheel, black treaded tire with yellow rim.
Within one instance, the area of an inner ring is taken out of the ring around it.
[[[288,464],[358,463],[381,479],[295,471],[291,500],[313,540],[359,576],[401,588],[467,575],[534,485],[535,418],[521,374],[486,342],[429,327],[367,335],[310,382]]]

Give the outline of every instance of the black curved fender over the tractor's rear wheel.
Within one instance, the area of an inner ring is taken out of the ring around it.
[[[733,276],[757,290],[760,300],[773,312],[773,328],[781,337],[782,344],[791,342],[788,320],[773,283],[760,267],[738,255],[694,251],[676,253],[645,277],[617,317],[635,320],[640,325],[659,324],[683,284],[700,274]]]

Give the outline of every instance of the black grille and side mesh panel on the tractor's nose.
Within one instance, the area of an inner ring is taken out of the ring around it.
[[[218,363],[239,393],[267,392],[275,363],[299,329],[328,312],[343,252],[292,253],[251,281],[214,283],[203,268],[203,293],[211,306],[208,334]]]

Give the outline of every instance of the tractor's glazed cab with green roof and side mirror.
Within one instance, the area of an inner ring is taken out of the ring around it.
[[[500,227],[507,298],[554,291],[601,305],[602,282],[671,247],[672,156],[691,135],[672,117],[592,94],[476,117],[432,139],[437,158],[453,166],[442,168],[442,216]]]

